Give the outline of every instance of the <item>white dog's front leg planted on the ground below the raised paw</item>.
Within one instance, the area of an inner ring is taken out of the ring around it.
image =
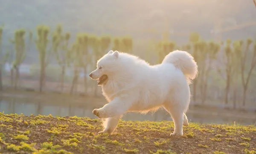
[[[116,116],[116,117],[109,117],[107,119],[104,119],[103,121],[103,126],[104,126],[104,130],[98,132],[98,134],[102,134],[102,133],[108,133],[108,134],[112,134],[113,131],[115,131],[116,126],[119,122],[121,116]]]

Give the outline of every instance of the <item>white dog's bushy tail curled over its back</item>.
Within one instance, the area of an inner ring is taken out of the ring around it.
[[[162,63],[172,63],[176,68],[179,68],[186,76],[189,84],[198,74],[198,66],[194,57],[186,51],[172,51],[164,57]]]

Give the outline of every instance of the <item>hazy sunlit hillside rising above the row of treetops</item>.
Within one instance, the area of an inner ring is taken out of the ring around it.
[[[217,18],[222,18],[225,29],[256,21],[255,14],[253,2],[244,0],[0,0],[0,26],[4,25],[3,51],[13,50],[9,39],[13,38],[16,29],[32,30],[35,39],[35,30],[40,24],[49,26],[50,30],[62,24],[64,31],[71,33],[71,42],[79,32],[114,37],[129,35],[134,39],[134,46],[143,46],[142,50],[147,50],[145,43],[139,45],[141,40],[160,40],[166,29],[165,21],[169,24],[169,31],[174,33],[170,39],[180,44],[186,43],[186,34],[193,31],[206,40],[214,39],[211,31]],[[224,32],[222,39],[255,38],[255,27]],[[37,63],[35,57],[38,53],[34,44],[28,53],[25,62]]]

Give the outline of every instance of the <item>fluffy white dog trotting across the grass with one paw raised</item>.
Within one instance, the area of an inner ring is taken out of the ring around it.
[[[174,121],[171,135],[182,136],[188,125],[186,111],[190,102],[189,84],[198,73],[198,66],[186,51],[172,51],[158,65],[151,66],[139,57],[109,51],[90,73],[98,79],[108,104],[94,109],[104,119],[104,130],[112,134],[125,112],[147,113],[163,106]]]

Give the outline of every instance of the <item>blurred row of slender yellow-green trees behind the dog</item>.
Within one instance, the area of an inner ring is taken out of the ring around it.
[[[10,49],[3,54],[2,42],[3,39],[8,39],[3,38],[2,34],[3,27],[0,27],[0,90],[2,89],[3,65],[10,59],[13,59],[11,79],[15,71],[15,80],[14,82],[12,80],[12,83],[14,83],[14,88],[17,88],[20,66],[28,56],[27,51],[31,50],[33,45],[38,51],[38,66],[40,67],[33,68],[32,71],[34,74],[40,72],[39,91],[43,91],[46,77],[50,77],[56,80],[59,78],[59,89],[64,92],[64,89],[67,89],[65,88],[67,71],[71,69],[73,76],[69,78],[72,79],[71,86],[68,87],[70,94],[79,91],[81,81],[84,83],[84,94],[94,96],[98,94],[99,86],[90,85],[92,82],[88,75],[95,69],[97,60],[109,50],[139,54],[137,48],[135,50],[136,42],[131,37],[96,36],[83,32],[76,34],[75,40],[71,42],[71,33],[63,31],[61,25],[57,25],[53,31],[50,31],[48,26],[38,26],[36,34],[25,29],[18,29],[15,31],[14,38],[9,40],[14,50]],[[35,35],[35,40],[33,35]],[[247,100],[252,100],[252,97],[255,102],[256,97],[248,92],[250,91],[248,89],[256,83],[256,42],[254,40],[250,38],[236,41],[228,39],[217,43],[206,41],[200,34],[193,32],[189,35],[186,44],[177,45],[173,40],[158,40],[151,41],[148,47],[146,59],[154,60],[158,64],[162,63],[164,57],[174,50],[188,51],[193,55],[198,64],[199,73],[191,85],[192,102],[205,104],[209,99],[219,99],[225,106],[232,101],[233,108],[246,106]],[[57,71],[56,67],[49,67],[50,62],[57,63],[60,69]],[[218,90],[212,91],[213,88]]]

